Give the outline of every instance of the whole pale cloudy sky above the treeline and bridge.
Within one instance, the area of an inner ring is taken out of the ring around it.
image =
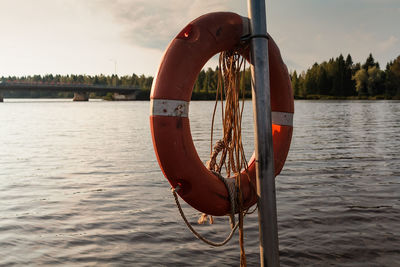
[[[400,0],[266,0],[266,10],[290,71],[341,53],[372,53],[385,68],[400,55]],[[0,76],[154,76],[176,34],[214,11],[247,16],[247,1],[0,0]]]

